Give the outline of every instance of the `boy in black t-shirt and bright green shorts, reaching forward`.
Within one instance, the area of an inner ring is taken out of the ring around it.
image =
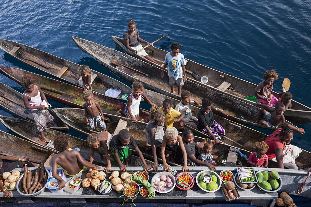
[[[130,133],[127,129],[122,129],[118,134],[114,135],[111,138],[109,145],[111,151],[113,152],[112,155],[114,162],[119,164],[119,168],[122,171],[126,171],[126,167],[128,166],[128,157],[132,154],[129,145],[132,145],[140,159],[142,159],[144,170],[148,172],[151,170],[151,167],[147,165],[142,152],[138,148],[134,138],[130,136]]]

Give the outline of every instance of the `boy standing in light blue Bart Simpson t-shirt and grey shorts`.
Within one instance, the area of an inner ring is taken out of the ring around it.
[[[171,44],[171,52],[166,53],[164,66],[161,72],[161,77],[164,77],[164,70],[167,66],[169,66],[169,86],[171,87],[171,92],[174,91],[174,84],[177,84],[178,88],[178,96],[181,96],[181,87],[183,86],[183,82],[187,80],[186,78],[186,60],[183,57],[183,54],[179,53],[180,44],[172,43]]]

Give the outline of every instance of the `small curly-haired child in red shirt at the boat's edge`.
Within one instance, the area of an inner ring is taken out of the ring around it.
[[[247,159],[247,164],[249,167],[257,168],[267,168],[268,167],[268,156],[266,152],[268,151],[269,146],[266,142],[255,142],[254,151],[249,155]]]

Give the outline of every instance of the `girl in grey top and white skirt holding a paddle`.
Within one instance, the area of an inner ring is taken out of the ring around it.
[[[155,60],[153,60],[145,50],[141,50],[137,52],[138,50],[142,49],[142,43],[146,43],[150,47],[152,47],[152,43],[147,42],[146,40],[143,40],[142,38],[139,37],[139,32],[136,29],[136,23],[132,18],[130,18],[130,21],[128,22],[128,30],[123,34],[123,39],[124,39],[124,45],[127,47],[130,51],[134,52],[134,54],[137,54],[139,56],[145,57],[147,60],[152,61],[158,65]],[[139,42],[138,42],[139,41]]]

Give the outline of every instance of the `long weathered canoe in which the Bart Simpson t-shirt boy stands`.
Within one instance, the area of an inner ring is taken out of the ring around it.
[[[168,73],[165,72],[164,77],[160,77],[160,68],[85,39],[77,37],[72,37],[72,39],[82,51],[92,56],[106,69],[118,75],[120,78],[129,83],[133,83],[134,81],[140,82],[149,90],[180,100],[180,97],[170,92]],[[113,59],[117,59],[118,61],[123,62],[124,65],[128,65],[149,75],[143,75],[124,66],[116,66],[111,62]],[[198,101],[201,101],[202,98],[208,98],[213,102],[214,107],[229,113],[229,116],[226,117],[227,119],[242,124],[251,124],[261,128],[275,130],[275,128],[273,129],[272,127],[269,128],[261,124],[253,123],[256,121],[259,112],[257,106],[245,103],[244,101],[230,97],[218,91],[211,90],[210,88],[206,88],[192,81],[186,81],[182,88],[183,90],[190,91],[191,96]],[[175,89],[175,91],[177,91],[177,89]]]

